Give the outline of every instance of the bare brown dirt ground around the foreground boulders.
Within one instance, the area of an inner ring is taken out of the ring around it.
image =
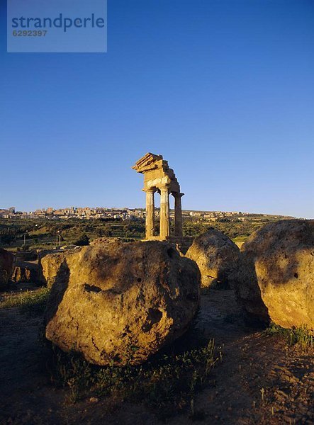
[[[0,424],[162,424],[149,408],[105,399],[69,404],[47,375],[40,341],[42,317],[0,310]],[[188,413],[167,424],[314,424],[313,348],[288,346],[242,321],[232,291],[202,295],[196,331],[223,346],[223,360]]]

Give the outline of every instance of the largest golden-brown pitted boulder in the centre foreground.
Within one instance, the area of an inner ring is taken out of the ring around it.
[[[91,363],[139,364],[184,334],[199,292],[196,264],[172,244],[94,242],[65,253],[47,305],[45,335]]]

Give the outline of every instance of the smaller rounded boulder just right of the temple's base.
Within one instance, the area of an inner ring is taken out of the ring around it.
[[[201,271],[201,285],[221,289],[232,286],[239,256],[237,245],[213,228],[196,237],[186,252],[186,257],[194,260]]]

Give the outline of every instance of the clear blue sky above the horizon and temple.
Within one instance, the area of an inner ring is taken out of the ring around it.
[[[108,0],[108,53],[6,53],[0,208],[144,206],[162,154],[184,208],[314,217],[314,1]]]

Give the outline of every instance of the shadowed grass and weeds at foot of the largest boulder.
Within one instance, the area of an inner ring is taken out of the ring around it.
[[[106,397],[119,404],[123,400],[147,404],[166,418],[189,412],[194,419],[202,412],[194,409],[194,397],[210,380],[210,373],[222,353],[213,340],[183,353],[163,353],[144,365],[107,367],[90,365],[77,353],[53,348],[50,377],[55,385],[69,389],[68,402],[86,397]]]

